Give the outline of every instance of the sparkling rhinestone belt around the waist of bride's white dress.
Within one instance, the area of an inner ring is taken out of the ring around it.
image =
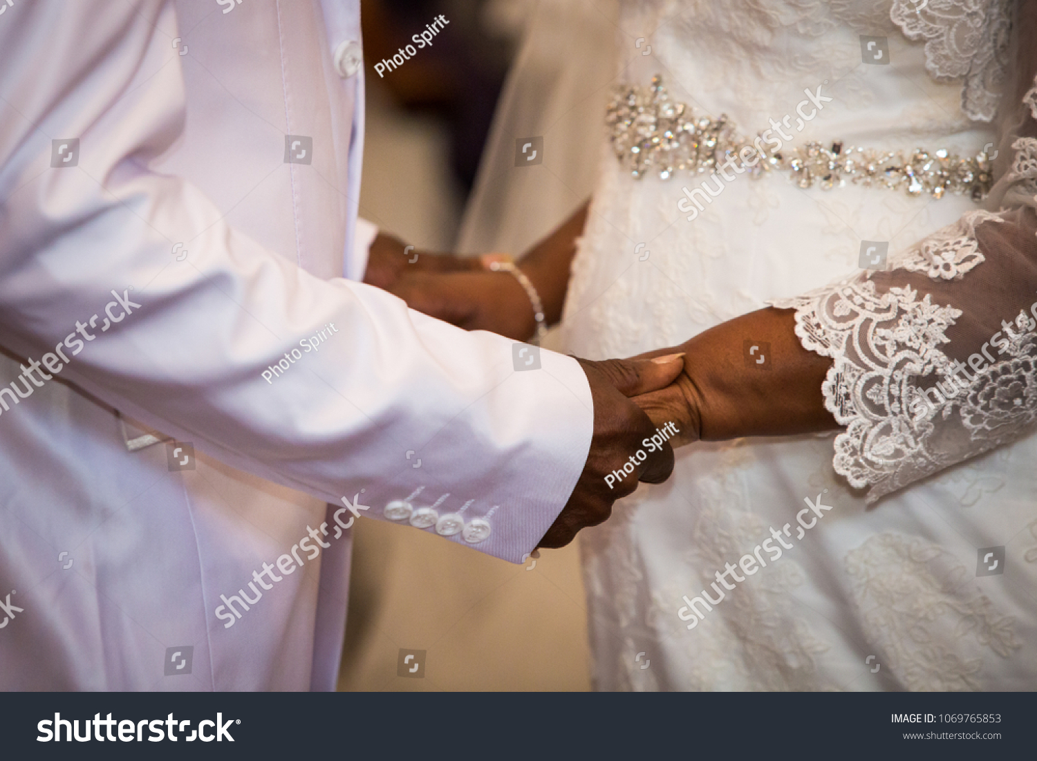
[[[738,133],[727,114],[716,119],[696,117],[686,104],[670,101],[657,76],[650,87],[618,88],[606,121],[616,157],[635,178],[657,171],[660,177],[669,179],[677,170],[709,172],[733,164],[754,179],[787,170],[801,188],[818,182],[831,190],[845,186],[848,179],[866,187],[903,189],[909,196],[928,193],[942,198],[947,192],[968,193],[974,201],[985,198],[992,182],[985,152],[974,157],[956,156],[945,148],[891,152],[844,148],[841,140],[830,146],[811,141],[787,150],[762,139],[769,131],[750,140]],[[747,159],[756,161],[750,165]]]

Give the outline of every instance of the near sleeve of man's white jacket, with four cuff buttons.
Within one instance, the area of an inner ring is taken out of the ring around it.
[[[441,514],[467,507],[440,533],[464,525],[452,541],[521,562],[590,446],[578,363],[527,350],[520,367],[509,340],[312,277],[151,172],[185,118],[159,27],[175,28],[172,3],[18,2],[0,19],[3,348],[33,383],[75,384],[371,517],[419,488],[415,507],[449,494]],[[172,251],[185,239],[188,257]],[[39,402],[4,388],[0,434],[18,403]]]

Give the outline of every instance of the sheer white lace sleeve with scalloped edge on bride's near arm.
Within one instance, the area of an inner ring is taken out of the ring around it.
[[[833,360],[834,466],[868,502],[1037,430],[1037,8],[1016,19],[990,210],[795,299],[795,333]],[[1029,86],[1029,89],[1027,87]]]

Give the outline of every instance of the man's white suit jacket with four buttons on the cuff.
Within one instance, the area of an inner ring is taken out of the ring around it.
[[[0,688],[333,688],[340,527],[419,488],[520,562],[589,388],[355,282],[356,0],[2,5]]]

